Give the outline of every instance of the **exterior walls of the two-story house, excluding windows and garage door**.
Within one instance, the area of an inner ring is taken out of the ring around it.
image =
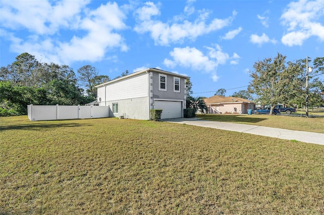
[[[107,83],[97,88],[100,106],[109,105],[109,116],[124,116],[130,119],[149,120],[149,110],[154,109],[155,100],[181,101],[185,109],[187,89],[185,78],[180,79],[180,92],[174,92],[174,77],[156,71],[140,73],[128,79]],[[159,90],[159,74],[167,76],[167,90]],[[118,113],[113,113],[113,103],[118,103]],[[183,111],[182,117],[183,117]]]

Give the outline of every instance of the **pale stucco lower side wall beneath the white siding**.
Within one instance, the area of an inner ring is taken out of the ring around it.
[[[118,103],[118,113],[112,113],[112,103]],[[109,117],[125,114],[129,119],[149,120],[148,97],[107,101],[107,105],[109,105]]]

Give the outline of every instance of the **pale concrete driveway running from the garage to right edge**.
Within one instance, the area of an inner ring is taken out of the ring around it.
[[[207,120],[199,120],[196,118],[177,118],[163,120],[170,123],[179,123],[186,125],[194,125],[207,128],[216,128],[221,130],[236,131],[241,133],[262,135],[267,137],[275,137],[286,140],[297,140],[306,143],[315,143],[324,145],[324,134],[306,132],[306,131],[293,131],[281,128],[270,128],[263,126],[245,125],[237,123],[224,123]]]

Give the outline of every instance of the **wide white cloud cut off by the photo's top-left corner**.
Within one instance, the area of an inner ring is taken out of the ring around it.
[[[2,24],[8,29],[27,29],[39,35],[54,34],[59,27],[77,23],[78,14],[90,1],[3,1]]]

